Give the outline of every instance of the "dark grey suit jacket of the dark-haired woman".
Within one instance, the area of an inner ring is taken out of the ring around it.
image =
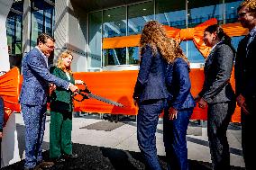
[[[218,43],[206,58],[205,81],[199,93],[207,103],[223,103],[234,100],[229,79],[233,69],[233,50],[223,42]]]

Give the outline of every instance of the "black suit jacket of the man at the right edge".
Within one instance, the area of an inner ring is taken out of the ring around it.
[[[234,65],[235,93],[242,94],[246,103],[255,108],[256,105],[256,38],[251,41],[246,51],[247,37],[238,45]]]

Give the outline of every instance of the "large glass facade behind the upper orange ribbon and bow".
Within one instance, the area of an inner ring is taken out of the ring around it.
[[[96,12],[98,16],[102,16],[101,26],[103,28],[102,32],[97,31],[97,42],[102,43],[100,37],[114,38],[141,34],[144,24],[151,20],[157,20],[164,25],[179,29],[194,28],[211,18],[216,18],[219,24],[238,22],[236,9],[241,2],[241,0],[197,0],[189,2],[187,0],[151,0],[105,9]],[[95,13],[88,13],[89,18],[93,15]],[[100,22],[97,24],[97,28],[94,28],[89,22],[89,32],[94,32],[101,27]],[[100,35],[100,33],[102,34]],[[235,48],[241,39],[242,36],[232,38]],[[192,40],[182,41],[180,45],[191,63],[205,63],[205,58]],[[89,51],[92,50],[98,55],[102,54],[103,67],[139,64],[140,52],[138,47],[102,49],[102,45],[96,44],[89,38]],[[98,65],[97,67],[101,66]]]

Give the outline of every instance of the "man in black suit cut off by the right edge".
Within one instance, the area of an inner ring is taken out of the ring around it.
[[[251,157],[256,152],[256,3],[247,0],[237,9],[238,20],[242,27],[248,28],[249,34],[238,45],[235,58],[236,101],[241,107],[242,123],[242,153],[246,169],[255,169],[255,159]]]

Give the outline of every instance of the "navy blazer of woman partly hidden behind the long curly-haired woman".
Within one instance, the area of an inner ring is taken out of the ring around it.
[[[169,107],[179,111],[196,106],[190,93],[189,67],[184,59],[176,58],[167,66],[166,85],[169,92]]]

